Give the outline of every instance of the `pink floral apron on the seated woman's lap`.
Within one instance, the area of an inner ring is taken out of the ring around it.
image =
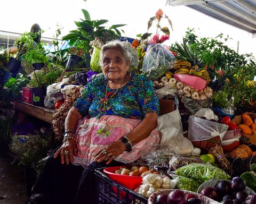
[[[88,166],[93,162],[92,154],[96,150],[106,146],[110,142],[119,140],[123,135],[131,132],[141,120],[124,118],[115,115],[103,115],[96,117],[84,117],[78,121],[76,129],[77,157],[74,157],[75,165]],[[115,160],[123,163],[134,162],[139,159],[140,152],[153,144],[160,142],[159,134],[153,130],[148,138],[132,146],[131,152],[124,152]]]

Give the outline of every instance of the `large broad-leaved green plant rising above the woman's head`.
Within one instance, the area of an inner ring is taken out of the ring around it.
[[[69,40],[70,46],[75,46],[78,49],[82,48],[84,53],[89,53],[91,49],[90,41],[94,40],[95,37],[99,37],[103,43],[106,43],[108,40],[116,39],[118,36],[121,36],[121,32],[117,28],[125,24],[111,25],[107,29],[102,25],[107,23],[108,20],[91,20],[88,11],[82,9],[82,12],[85,20],[81,19],[81,21],[75,21],[77,29],[71,30],[68,35],[62,38],[62,40]]]

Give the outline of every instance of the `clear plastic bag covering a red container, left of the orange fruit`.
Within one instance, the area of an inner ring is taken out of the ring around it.
[[[189,116],[188,139],[190,141],[209,140],[219,136],[221,141],[228,130],[228,125]]]

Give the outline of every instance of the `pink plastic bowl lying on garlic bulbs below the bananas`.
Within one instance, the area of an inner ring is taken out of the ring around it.
[[[173,74],[173,77],[186,85],[193,87],[194,89],[202,90],[205,88],[207,81],[201,77],[188,74]]]

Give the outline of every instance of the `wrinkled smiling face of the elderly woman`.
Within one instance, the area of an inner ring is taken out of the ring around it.
[[[129,70],[130,61],[125,59],[120,50],[107,49],[103,53],[103,74],[110,81],[121,81]]]

